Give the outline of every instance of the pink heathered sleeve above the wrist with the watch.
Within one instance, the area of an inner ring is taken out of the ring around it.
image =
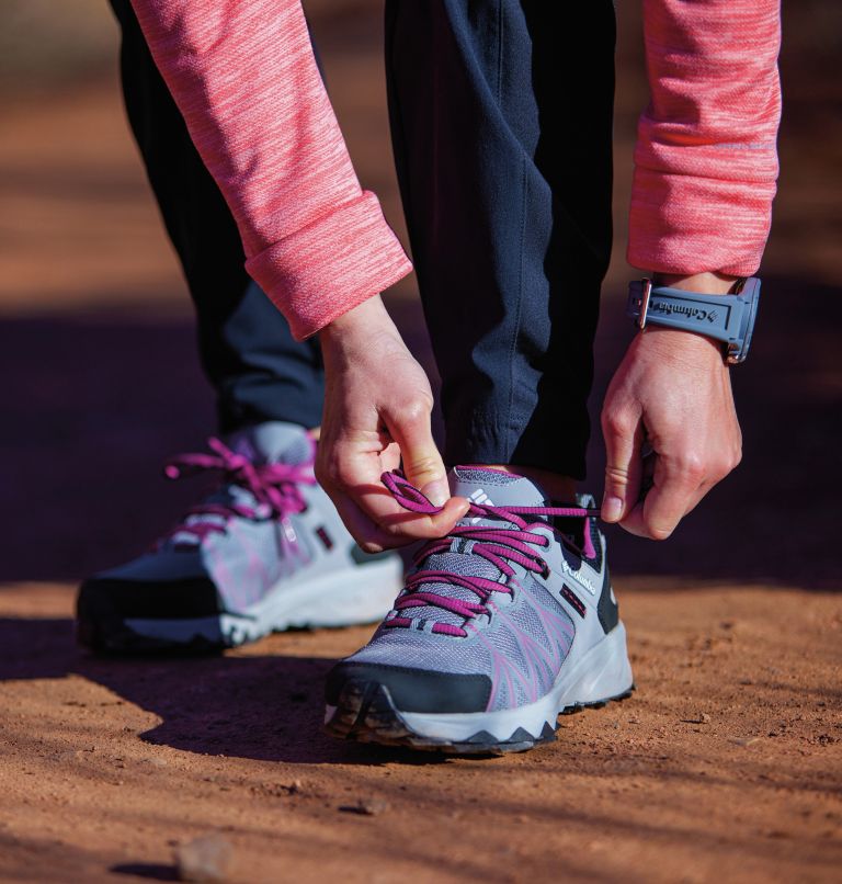
[[[644,22],[628,261],[751,275],[777,179],[780,0],[644,0]]]

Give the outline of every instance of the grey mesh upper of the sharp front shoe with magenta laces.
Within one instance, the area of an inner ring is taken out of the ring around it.
[[[541,512],[550,505],[528,479],[456,468],[452,489],[475,508],[453,535],[421,551],[396,610],[372,642],[348,658],[345,672],[379,665],[482,675],[490,680],[488,710],[535,702],[551,689],[577,632],[573,617],[536,571],[549,565],[560,571],[560,560],[573,556],[562,549],[551,515]],[[530,509],[537,512],[523,512]],[[592,546],[585,510],[553,512],[584,522]],[[595,562],[596,551],[590,553]],[[580,556],[580,567],[581,562]]]

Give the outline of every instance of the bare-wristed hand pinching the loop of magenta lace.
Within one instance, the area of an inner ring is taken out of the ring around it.
[[[430,428],[430,382],[383,302],[364,302],[319,337],[326,392],[316,477],[348,530],[367,553],[444,536],[468,503],[451,498]],[[441,512],[408,512],[386,490],[380,476],[401,462],[409,481]]]

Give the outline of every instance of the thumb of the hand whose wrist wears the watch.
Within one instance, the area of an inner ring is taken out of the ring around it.
[[[602,518],[619,522],[632,511],[640,492],[642,424],[637,415],[604,412],[602,431],[607,455]]]

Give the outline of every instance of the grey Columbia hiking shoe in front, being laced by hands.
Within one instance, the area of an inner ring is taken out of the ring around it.
[[[402,477],[416,512],[435,508]],[[530,479],[457,467],[471,502],[422,547],[372,641],[328,676],[328,733],[462,753],[555,739],[557,716],[633,690],[626,633],[594,524],[593,498],[550,506]]]

